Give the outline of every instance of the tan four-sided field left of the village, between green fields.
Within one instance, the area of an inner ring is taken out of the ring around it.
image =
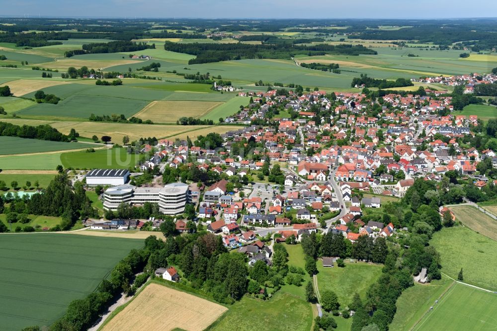
[[[200,118],[222,102],[212,101],[152,101],[135,117],[154,123],[176,123],[180,117]]]

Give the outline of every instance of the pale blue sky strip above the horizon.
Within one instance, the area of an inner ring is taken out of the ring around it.
[[[308,4],[308,5],[307,5]],[[0,0],[0,16],[195,18],[469,18],[495,0]]]

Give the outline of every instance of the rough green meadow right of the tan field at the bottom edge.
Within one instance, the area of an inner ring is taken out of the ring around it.
[[[276,293],[262,301],[245,296],[210,330],[309,331],[313,322],[311,305],[289,294]]]

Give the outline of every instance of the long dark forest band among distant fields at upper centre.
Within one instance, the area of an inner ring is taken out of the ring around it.
[[[164,48],[167,51],[196,55],[188,64],[210,63],[242,59],[290,59],[296,54],[308,56],[325,54],[359,55],[374,54],[377,52],[362,45],[310,45],[295,46],[292,44],[279,45],[250,45],[242,43],[214,44],[214,43],[173,43],[166,41]]]

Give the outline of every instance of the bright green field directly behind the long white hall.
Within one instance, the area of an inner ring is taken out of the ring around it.
[[[128,154],[124,148],[97,150],[94,153],[69,152],[61,156],[65,168],[75,169],[114,169],[128,168],[136,165],[138,155]]]

